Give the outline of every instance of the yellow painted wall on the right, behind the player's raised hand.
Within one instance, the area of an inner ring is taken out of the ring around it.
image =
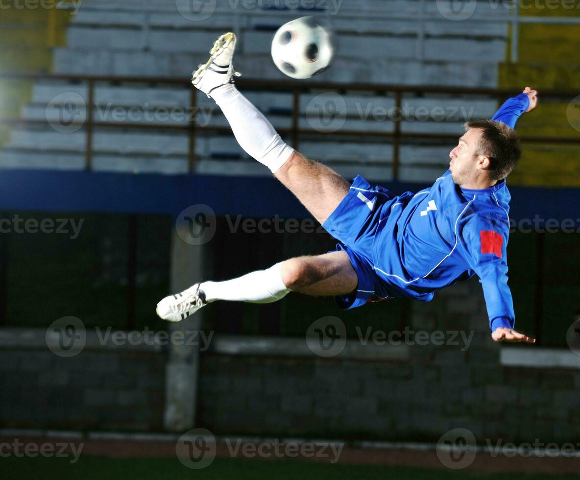
[[[577,0],[522,0],[520,16],[577,17]],[[566,8],[573,5],[574,8]],[[524,8],[531,6],[531,8]],[[557,6],[557,8],[553,8]],[[542,101],[542,89],[577,91],[580,95],[580,25],[521,24],[518,60],[500,65],[498,83],[506,88],[530,85],[539,92],[536,110],[521,117],[522,136],[575,138],[580,140],[580,121],[568,121],[567,108],[574,100]],[[577,102],[580,104],[580,102]],[[578,112],[580,117],[580,112]],[[575,127],[575,128],[574,128]],[[510,184],[580,187],[580,146],[574,144],[523,144],[523,157],[509,177]]]

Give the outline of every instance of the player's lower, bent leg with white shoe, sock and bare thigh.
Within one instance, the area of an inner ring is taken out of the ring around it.
[[[182,293],[161,300],[157,314],[165,320],[179,322],[217,300],[273,303],[289,292],[343,295],[353,292],[357,283],[357,274],[346,252],[296,257],[233,280],[196,283]]]

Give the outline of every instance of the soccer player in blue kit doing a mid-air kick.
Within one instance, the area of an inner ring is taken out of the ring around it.
[[[233,280],[196,283],[161,300],[157,314],[179,322],[213,301],[271,303],[291,291],[335,296],[345,310],[393,297],[429,301],[437,290],[477,274],[492,338],[534,343],[513,329],[505,177],[521,155],[514,125],[536,106],[537,92],[526,87],[491,120],[466,123],[447,172],[430,188],[396,196],[360,175],[350,184],[285,144],[234,86],[235,42],[228,33],[214,43],[193,85],[216,101],[240,146],[342,244],[336,252],[285,260]]]

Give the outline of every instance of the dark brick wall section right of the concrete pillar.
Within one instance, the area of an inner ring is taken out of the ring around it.
[[[364,308],[376,307],[389,308]],[[437,441],[462,427],[478,442],[579,440],[580,373],[502,366],[503,344],[490,338],[477,279],[414,303],[412,328],[474,336],[466,351],[411,346],[411,360],[403,362],[202,355],[200,427],[397,441]]]

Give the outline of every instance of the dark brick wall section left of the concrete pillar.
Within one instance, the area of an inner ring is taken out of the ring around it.
[[[164,355],[0,350],[0,425],[161,430]]]

